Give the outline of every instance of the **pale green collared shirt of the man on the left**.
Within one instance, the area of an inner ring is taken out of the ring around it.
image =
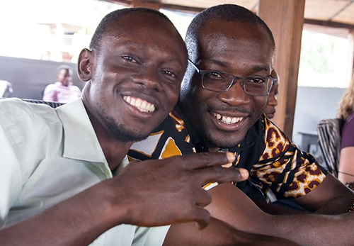
[[[0,228],[111,177],[81,99],[56,109],[0,100]],[[91,245],[162,245],[167,230],[118,225]]]

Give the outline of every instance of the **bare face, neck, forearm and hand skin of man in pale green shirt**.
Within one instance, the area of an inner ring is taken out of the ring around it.
[[[127,138],[115,138],[115,128],[123,125],[122,133],[138,139],[167,116],[178,99],[187,54],[171,23],[140,12],[127,14],[101,40],[101,48],[101,52],[81,52],[78,72],[81,80],[89,81],[82,99],[113,170],[132,144]],[[139,111],[124,96],[147,100],[155,110]],[[132,162],[112,179],[1,229],[0,245],[89,245],[122,223],[155,226],[196,221],[205,228],[210,214],[203,207],[211,196],[202,185],[248,177],[245,170],[220,166],[234,158],[232,153],[201,153]]]

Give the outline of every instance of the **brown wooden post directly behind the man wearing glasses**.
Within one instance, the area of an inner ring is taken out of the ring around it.
[[[292,138],[305,0],[259,0],[258,16],[275,38],[274,68],[280,76],[277,113],[273,121]]]

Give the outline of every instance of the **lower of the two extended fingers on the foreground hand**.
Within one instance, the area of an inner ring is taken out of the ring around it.
[[[198,184],[205,185],[212,182],[239,182],[249,178],[249,172],[244,168],[225,168],[221,166],[205,167],[194,171]]]

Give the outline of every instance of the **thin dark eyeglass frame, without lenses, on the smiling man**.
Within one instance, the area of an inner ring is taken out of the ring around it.
[[[204,85],[204,80],[202,79],[202,88],[203,89],[206,89],[208,91],[215,91],[215,92],[225,92],[225,91],[228,91],[235,83],[236,80],[239,80],[241,79],[242,82],[241,82],[241,86],[242,88],[244,89],[244,93],[246,93],[247,95],[249,96],[268,96],[270,94],[270,91],[272,90],[273,88],[273,85],[275,84],[275,82],[277,82],[277,79],[271,77],[271,76],[247,76],[247,77],[237,77],[235,76],[234,74],[230,74],[229,72],[222,72],[222,71],[218,71],[218,70],[201,70],[197,67],[197,65],[195,65],[190,59],[188,59],[188,62],[190,63],[190,65],[192,65],[195,70],[197,70],[198,74],[200,74],[200,76],[203,78],[204,77],[204,74],[207,74],[207,73],[210,73],[210,72],[216,72],[216,73],[221,73],[221,74],[228,74],[230,76],[232,76],[232,82],[229,83],[229,86],[227,87],[227,89],[223,89],[223,90],[215,90],[215,89],[208,89],[208,88],[205,88],[205,85]],[[249,94],[247,91],[246,91],[246,79],[247,78],[261,78],[261,79],[271,79],[272,82],[269,86],[269,89],[268,89],[268,92],[267,94],[261,94],[261,95],[252,95],[252,94]]]

